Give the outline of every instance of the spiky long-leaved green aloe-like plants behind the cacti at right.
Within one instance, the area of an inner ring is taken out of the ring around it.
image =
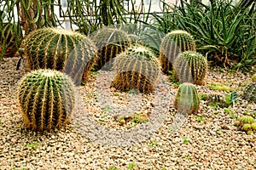
[[[210,0],[181,1],[180,6],[166,3],[163,14],[154,14],[154,26],[160,31],[189,31],[197,49],[215,65],[243,67],[256,64],[255,2]]]

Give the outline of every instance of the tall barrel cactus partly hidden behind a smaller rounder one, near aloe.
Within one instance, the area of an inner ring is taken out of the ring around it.
[[[171,31],[160,44],[160,63],[162,71],[172,71],[177,55],[184,51],[195,51],[194,38],[187,31]]]

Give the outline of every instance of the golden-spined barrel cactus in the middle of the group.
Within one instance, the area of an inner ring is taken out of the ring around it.
[[[120,91],[132,88],[151,93],[160,74],[160,64],[150,48],[135,44],[119,54],[113,62],[117,76],[113,87]]]

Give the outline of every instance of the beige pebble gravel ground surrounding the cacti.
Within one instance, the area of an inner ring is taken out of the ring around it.
[[[0,169],[256,169],[256,134],[233,126],[236,116],[256,118],[256,105],[241,99],[252,73],[212,69],[207,84],[196,86],[199,94],[224,95],[208,85],[225,82],[238,92],[236,105],[224,109],[201,101],[196,116],[183,116],[173,109],[177,88],[167,77],[156,94],[120,93],[102,88],[109,83],[102,71],[78,88],[83,110],[74,113],[73,123],[42,134],[22,123],[16,89],[25,65],[15,71],[17,61],[0,61]],[[135,112],[148,122],[118,122]]]

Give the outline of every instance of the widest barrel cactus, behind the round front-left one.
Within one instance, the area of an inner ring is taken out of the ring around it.
[[[96,45],[75,31],[42,28],[29,33],[21,44],[28,69],[64,71],[74,82],[87,78],[96,62]]]

